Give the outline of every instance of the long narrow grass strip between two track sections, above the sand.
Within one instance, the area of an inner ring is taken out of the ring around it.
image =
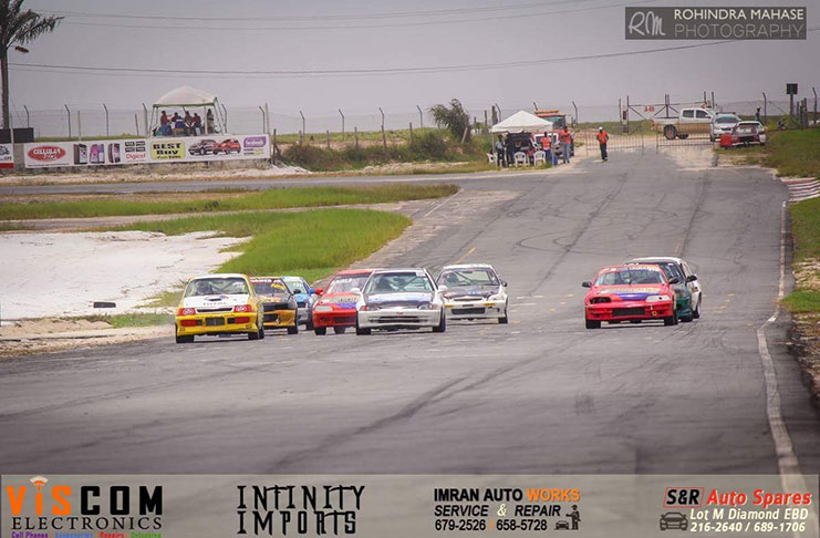
[[[281,188],[243,196],[198,197],[193,200],[128,199],[127,196],[98,196],[77,200],[2,203],[0,220],[85,218],[127,215],[168,215],[177,213],[219,213],[292,207],[383,204],[413,199],[440,198],[455,194],[455,185],[387,185],[375,187]]]

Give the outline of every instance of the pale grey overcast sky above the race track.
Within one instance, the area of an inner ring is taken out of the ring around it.
[[[35,10],[190,17],[222,20],[157,20],[69,15],[29,54],[14,63],[168,70],[344,70],[506,63],[547,58],[637,51],[692,44],[625,41],[620,0],[29,0]],[[655,1],[648,6],[714,4],[704,0]],[[512,6],[528,4],[525,9]],[[777,6],[776,0],[723,0],[722,6]],[[820,25],[817,0],[807,6],[809,28]],[[783,3],[787,6],[787,3]],[[491,10],[486,8],[507,7]],[[453,10],[451,13],[430,11]],[[567,11],[570,12],[556,12]],[[421,14],[419,14],[421,13]],[[427,14],[425,14],[427,13]],[[390,14],[391,17],[386,17]],[[385,15],[385,17],[382,17]],[[236,19],[256,20],[236,20]],[[232,19],[232,20],[231,20]],[[445,22],[446,21],[446,22]],[[443,22],[443,23],[440,23]],[[91,23],[91,24],[90,24]],[[125,25],[138,28],[123,28]],[[307,28],[305,28],[307,27]],[[318,28],[323,27],[323,28]],[[364,28],[363,28],[364,27]],[[261,28],[249,31],[247,29]],[[243,30],[245,29],[245,30]],[[564,105],[616,106],[658,102],[664,93],[718,101],[755,100],[760,92],[783,99],[786,82],[801,94],[820,89],[820,32],[806,41],[736,42],[509,69],[391,75],[264,77],[214,75],[96,75],[12,71],[15,108],[135,106],[188,84],[216,93],[230,106],[270,103],[272,111],[364,113],[412,111],[451,97],[473,108]]]

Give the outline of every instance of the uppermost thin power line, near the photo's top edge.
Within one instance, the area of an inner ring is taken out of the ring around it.
[[[590,0],[582,0],[590,1]],[[592,0],[596,1],[596,0]],[[589,6],[585,8],[569,8],[560,10],[538,11],[527,14],[500,14],[492,17],[479,17],[473,19],[454,19],[454,20],[433,20],[433,21],[414,21],[414,22],[391,22],[391,23],[378,23],[378,24],[344,24],[344,25],[283,25],[283,27],[180,27],[180,25],[156,25],[156,24],[118,24],[108,22],[84,22],[84,21],[72,21],[71,19],[63,22],[63,24],[71,24],[77,27],[100,27],[100,28],[133,28],[139,30],[170,30],[170,31],[204,31],[204,30],[216,30],[216,31],[233,31],[233,32],[259,32],[259,31],[300,31],[300,30],[366,30],[366,29],[384,29],[384,28],[409,28],[409,27],[427,27],[427,25],[442,25],[442,24],[464,24],[469,22],[486,22],[486,21],[499,21],[508,19],[521,19],[522,17],[542,17],[549,14],[562,14],[562,13],[577,13],[582,11],[591,11],[596,9],[609,9],[609,8],[623,8],[626,6],[636,6],[642,3],[652,3],[658,0],[636,0],[624,3],[614,3],[606,6]],[[217,19],[206,19],[217,20]],[[227,20],[227,19],[226,19]],[[261,19],[257,19],[261,20]]]

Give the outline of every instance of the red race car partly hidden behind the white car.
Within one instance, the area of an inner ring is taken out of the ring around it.
[[[372,272],[373,269],[339,271],[325,289],[316,289],[322,297],[313,304],[313,332],[326,334],[332,327],[336,334],[343,334],[349,327],[355,327],[359,294],[351,290],[364,289]]]

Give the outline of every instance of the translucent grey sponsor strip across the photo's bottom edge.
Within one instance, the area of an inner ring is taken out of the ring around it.
[[[6,475],[3,538],[817,538],[817,475]]]

